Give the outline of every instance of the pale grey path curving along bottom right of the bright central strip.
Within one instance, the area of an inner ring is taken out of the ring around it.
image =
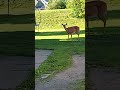
[[[36,82],[35,90],[66,90],[71,82],[85,78],[85,57],[73,56],[71,68],[55,75],[47,82]]]

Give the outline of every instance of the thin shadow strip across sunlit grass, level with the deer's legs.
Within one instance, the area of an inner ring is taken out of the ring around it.
[[[81,30],[80,34],[84,34],[85,30]],[[54,35],[67,35],[66,31],[60,32],[36,32],[35,36],[54,36]]]

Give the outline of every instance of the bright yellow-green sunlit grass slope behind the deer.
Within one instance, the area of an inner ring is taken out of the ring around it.
[[[42,11],[35,11],[36,14],[36,22],[40,23],[40,30],[42,31],[53,31],[63,29],[62,23],[68,23],[69,26],[77,25],[80,29],[85,28],[84,19],[77,19],[71,17],[71,10],[70,9],[58,9],[58,10],[42,10]],[[41,17],[41,20],[40,20]],[[37,32],[38,30],[36,30]],[[61,30],[60,30],[61,31]]]

